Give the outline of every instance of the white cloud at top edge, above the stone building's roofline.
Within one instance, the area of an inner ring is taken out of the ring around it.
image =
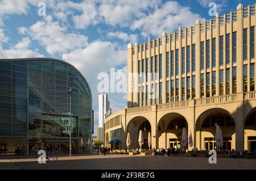
[[[195,24],[200,15],[191,12],[177,2],[166,2],[149,15],[135,20],[131,30],[141,30],[143,36],[161,36],[162,32],[172,32],[179,26],[189,27]]]

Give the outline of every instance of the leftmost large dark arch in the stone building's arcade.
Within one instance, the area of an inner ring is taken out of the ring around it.
[[[142,129],[142,126],[146,126],[146,129],[142,130],[142,134],[143,134],[143,140],[144,140],[144,144],[143,144],[143,148],[146,147],[147,148],[147,139],[148,139],[148,132],[151,132],[152,129],[152,125],[150,123],[150,121],[148,119],[146,119],[146,117],[143,116],[137,116],[134,117],[133,119],[131,119],[129,121],[129,123],[127,124],[127,133],[129,132],[130,134],[130,139],[131,139],[131,145],[129,146],[129,149],[137,149],[138,148],[138,135],[139,135],[139,130]],[[126,133],[126,136],[127,136]],[[152,134],[151,134],[152,135]],[[146,145],[146,146],[144,146]]]

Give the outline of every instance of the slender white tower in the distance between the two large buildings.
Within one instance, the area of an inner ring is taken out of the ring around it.
[[[97,128],[97,138],[98,140],[104,142],[104,121],[106,118],[106,113],[110,110],[110,104],[108,101],[108,94],[98,95],[98,128]]]

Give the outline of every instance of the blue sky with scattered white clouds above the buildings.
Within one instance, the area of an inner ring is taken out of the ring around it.
[[[46,4],[46,16],[38,15],[38,3]],[[98,126],[98,73],[110,68],[126,72],[127,44],[143,43],[172,33],[179,26],[211,19],[209,3],[220,15],[255,1],[133,0],[57,1],[0,0],[0,58],[52,57],[68,61],[81,71],[93,94],[95,128]],[[113,111],[126,107],[125,93],[111,93]]]

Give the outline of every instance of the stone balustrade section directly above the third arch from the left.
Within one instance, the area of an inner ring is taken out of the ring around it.
[[[216,96],[216,97],[212,97],[212,98],[196,99],[195,106],[200,106],[200,105],[205,105],[205,104],[233,102],[236,100],[237,100],[237,94]]]

